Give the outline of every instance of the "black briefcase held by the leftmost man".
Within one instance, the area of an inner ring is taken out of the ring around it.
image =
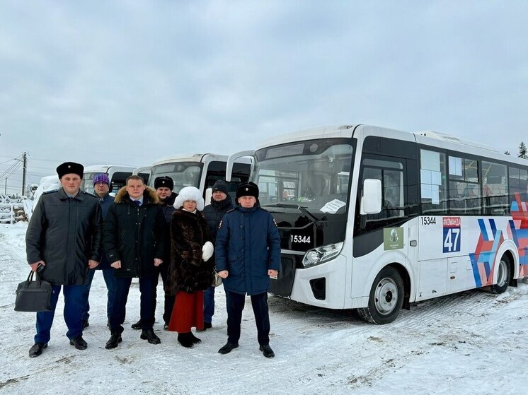
[[[28,279],[18,284],[16,288],[16,312],[50,312],[52,311],[52,285],[40,279],[37,273],[33,281],[33,273]]]

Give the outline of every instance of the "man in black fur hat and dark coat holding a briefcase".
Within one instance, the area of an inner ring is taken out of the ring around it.
[[[31,270],[42,266],[40,276],[53,288],[52,311],[37,313],[37,334],[30,357],[42,354],[50,341],[61,286],[66,336],[78,350],[87,347],[82,337],[82,290],[88,268],[95,268],[101,259],[101,206],[96,196],[81,191],[83,172],[79,163],[57,167],[61,187],[40,196],[25,234]]]

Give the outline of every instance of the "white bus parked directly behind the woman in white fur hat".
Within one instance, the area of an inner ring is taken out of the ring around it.
[[[183,187],[197,187],[205,196],[208,188],[212,188],[217,179],[225,179],[227,155],[214,153],[197,153],[194,155],[179,155],[158,160],[151,167],[149,185],[154,187],[156,177],[168,176],[174,181],[174,191],[178,193]],[[247,182],[251,172],[251,159],[239,158],[232,168],[231,182],[228,183],[229,194],[235,196],[236,187],[240,182]]]

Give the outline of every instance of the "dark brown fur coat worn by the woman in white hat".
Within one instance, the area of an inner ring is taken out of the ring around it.
[[[202,247],[207,242],[207,224],[200,211],[174,211],[171,220],[171,265],[165,293],[176,295],[179,290],[195,293],[205,290],[213,281],[214,264],[202,260]]]

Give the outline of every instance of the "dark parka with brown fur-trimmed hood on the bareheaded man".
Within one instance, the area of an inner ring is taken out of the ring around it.
[[[165,218],[154,189],[143,192],[142,206],[130,199],[126,187],[115,195],[103,226],[103,248],[112,264],[121,261],[116,277],[154,276],[154,258],[165,254]]]

